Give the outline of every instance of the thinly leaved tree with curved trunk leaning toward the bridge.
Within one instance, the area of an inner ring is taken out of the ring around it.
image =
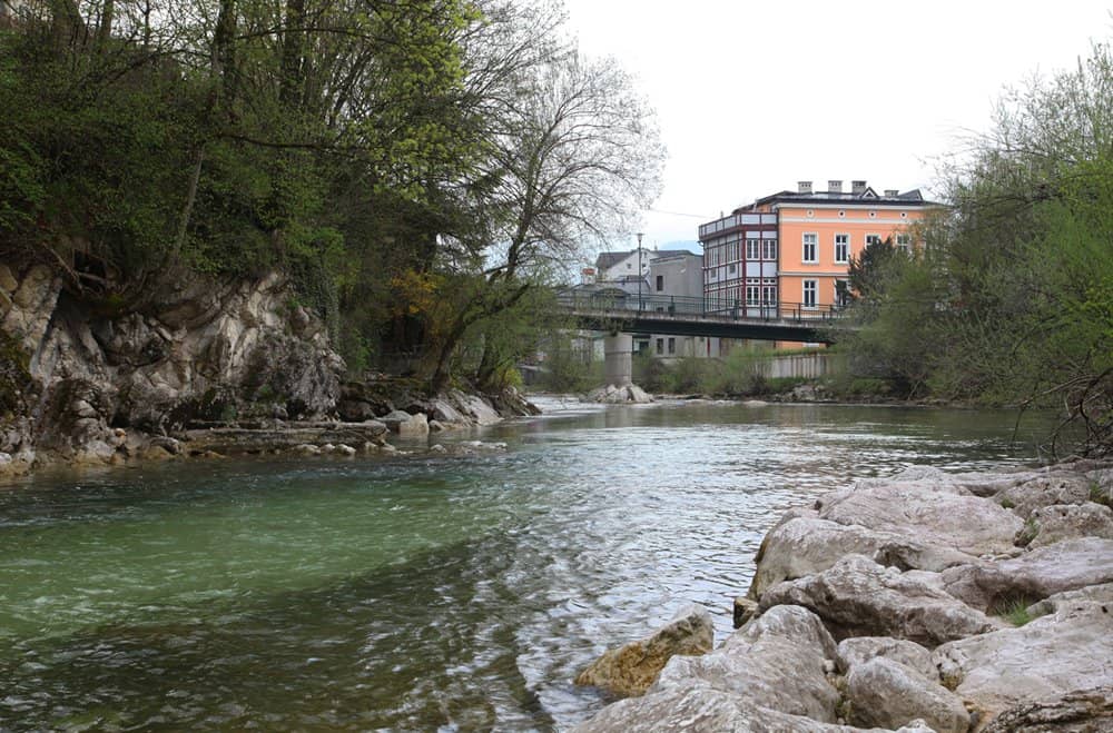
[[[513,79],[494,116],[492,153],[474,191],[476,226],[451,242],[482,268],[439,344],[431,384],[474,324],[512,308],[553,266],[578,261],[589,240],[628,228],[656,195],[663,150],[652,116],[613,60],[563,50]]]

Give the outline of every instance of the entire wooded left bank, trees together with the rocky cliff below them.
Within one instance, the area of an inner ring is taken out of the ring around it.
[[[190,425],[435,419],[422,399],[453,387],[505,394],[552,321],[553,263],[657,190],[651,110],[578,53],[556,4],[13,8],[0,453],[17,468],[131,457],[137,435]]]

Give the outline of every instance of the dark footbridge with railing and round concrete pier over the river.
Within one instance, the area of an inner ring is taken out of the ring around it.
[[[607,383],[629,384],[633,373],[632,334],[666,334],[768,341],[830,344],[841,313],[831,306],[799,303],[709,307],[703,298],[629,294],[622,290],[563,290],[561,310],[582,328],[609,334],[603,340]]]

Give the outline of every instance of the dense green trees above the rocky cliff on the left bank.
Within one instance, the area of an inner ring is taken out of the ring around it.
[[[67,8],[0,30],[0,256],[88,303],[279,270],[353,373],[498,388],[554,264],[656,192],[651,111],[548,3]]]

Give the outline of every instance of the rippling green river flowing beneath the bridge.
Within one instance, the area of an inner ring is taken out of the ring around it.
[[[605,702],[575,673],[684,602],[722,641],[788,506],[1034,457],[1005,413],[545,406],[443,438],[493,455],[0,487],[0,729],[560,730]]]

